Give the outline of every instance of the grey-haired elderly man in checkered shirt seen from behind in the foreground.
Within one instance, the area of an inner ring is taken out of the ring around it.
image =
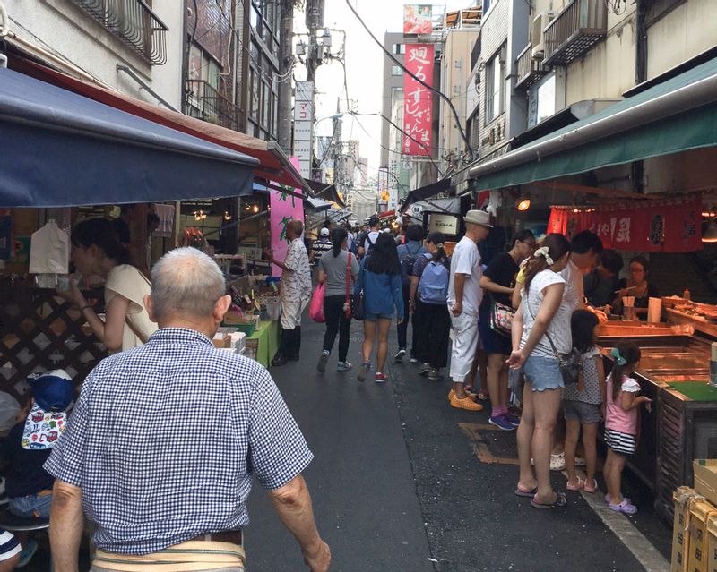
[[[203,252],[178,248],[152,269],[144,303],[160,329],[91,371],[45,465],[56,572],[78,569],[83,512],[93,572],[244,570],[253,475],[308,567],[329,569],[301,476],[306,440],[269,373],[212,345],[230,302]]]

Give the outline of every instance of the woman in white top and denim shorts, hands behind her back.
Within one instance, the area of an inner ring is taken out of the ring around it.
[[[523,416],[518,426],[519,497],[531,499],[535,508],[566,504],[566,495],[550,483],[550,448],[564,387],[560,354],[573,349],[570,334],[571,306],[563,300],[566,281],[559,272],[566,268],[570,243],[563,235],[550,234],[525,271],[522,302],[513,320],[511,368],[523,367]],[[535,463],[535,474],[531,467]]]

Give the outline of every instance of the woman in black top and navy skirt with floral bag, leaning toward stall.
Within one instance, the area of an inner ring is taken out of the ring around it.
[[[513,248],[495,256],[480,277],[480,287],[488,293],[480,304],[478,322],[480,341],[488,356],[488,395],[492,406],[488,423],[503,431],[514,431],[520,419],[508,411],[508,366],[505,360],[511,352],[511,330],[505,329],[507,324],[497,322],[500,316],[507,320],[513,314],[511,295],[518,265],[534,250],[535,236],[530,230],[523,230],[515,236]],[[503,326],[502,330],[499,330],[500,326]]]

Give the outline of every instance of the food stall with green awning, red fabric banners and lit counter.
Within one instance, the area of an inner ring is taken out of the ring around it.
[[[508,235],[591,230],[625,269],[638,254],[649,259],[660,295],[639,314],[601,308],[609,320],[600,345],[608,368],[619,340],[642,349],[636,374],[653,404],[628,463],[671,518],[672,492],[691,484],[693,459],[717,457],[717,387],[709,384],[717,358],[717,60],[696,58],[625,96],[469,172],[479,208],[497,214]]]

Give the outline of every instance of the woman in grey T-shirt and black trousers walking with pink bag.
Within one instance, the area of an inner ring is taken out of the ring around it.
[[[324,350],[319,355],[316,366],[322,373],[326,371],[326,363],[339,334],[338,371],[351,369],[346,361],[349,354],[349,334],[351,329],[350,293],[358,275],[358,260],[348,251],[349,235],[345,228],[337,226],[331,232],[332,249],[324,252],[319,260],[319,284],[324,284],[324,316],[326,317],[326,333],[324,334]]]

